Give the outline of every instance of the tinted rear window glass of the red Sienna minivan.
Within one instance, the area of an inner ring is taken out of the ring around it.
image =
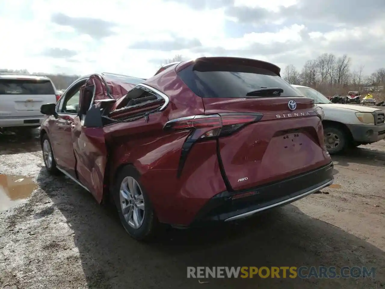
[[[178,76],[200,97],[255,97],[248,92],[270,87],[283,89],[281,96],[303,97],[280,76],[267,69],[244,65],[191,65]]]

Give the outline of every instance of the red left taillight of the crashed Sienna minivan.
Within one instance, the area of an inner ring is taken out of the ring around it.
[[[165,130],[191,130],[182,146],[177,177],[182,173],[187,155],[196,141],[228,136],[246,124],[255,123],[263,117],[260,113],[219,113],[195,115],[168,121]]]

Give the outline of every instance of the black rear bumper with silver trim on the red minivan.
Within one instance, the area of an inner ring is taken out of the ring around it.
[[[199,211],[191,226],[250,217],[286,205],[333,183],[333,163],[268,185],[241,192],[222,192]]]

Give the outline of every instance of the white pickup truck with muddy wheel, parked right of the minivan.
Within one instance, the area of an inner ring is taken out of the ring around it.
[[[330,154],[349,146],[375,143],[385,138],[385,111],[353,104],[330,102],[321,92],[307,86],[292,84],[304,96],[314,99],[325,118],[322,121],[325,146]]]

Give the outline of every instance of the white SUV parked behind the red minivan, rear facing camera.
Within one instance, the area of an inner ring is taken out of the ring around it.
[[[56,102],[56,88],[46,76],[0,73],[0,128],[37,128],[44,115],[40,106]]]

